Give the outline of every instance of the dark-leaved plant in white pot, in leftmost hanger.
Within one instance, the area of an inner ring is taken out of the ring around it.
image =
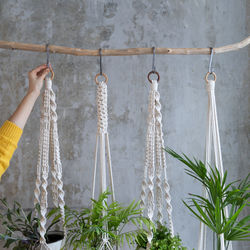
[[[25,212],[16,201],[13,208],[9,207],[6,199],[0,199],[0,202],[3,207],[0,212],[0,222],[5,229],[5,233],[0,234],[0,240],[5,242],[4,248],[9,249],[13,246],[13,250],[38,249],[40,239],[39,204],[33,210]],[[48,225],[45,238],[51,250],[59,250],[64,238],[64,233],[55,228],[60,217],[57,208],[52,209],[47,215],[47,219],[51,222]]]

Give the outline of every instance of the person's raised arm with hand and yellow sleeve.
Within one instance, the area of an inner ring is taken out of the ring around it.
[[[38,98],[43,81],[49,69],[41,65],[29,72],[29,89],[8,121],[0,128],[0,178],[9,166],[10,159],[17,148],[22,130]]]

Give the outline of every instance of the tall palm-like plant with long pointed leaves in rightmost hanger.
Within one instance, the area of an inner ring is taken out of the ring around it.
[[[166,151],[185,164],[188,175],[205,186],[207,197],[190,194],[189,203],[183,203],[197,219],[213,231],[213,248],[220,249],[220,234],[224,234],[226,249],[230,241],[249,240],[250,216],[242,215],[242,210],[249,206],[249,174],[243,181],[227,183],[227,171],[221,176],[216,168],[210,166],[207,170],[202,161],[191,160],[171,149]],[[226,207],[229,210],[228,216],[224,212]]]

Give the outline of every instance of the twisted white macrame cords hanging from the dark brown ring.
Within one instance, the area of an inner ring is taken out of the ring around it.
[[[166,200],[169,229],[171,235],[173,236],[174,228],[172,221],[170,186],[168,184],[167,178],[167,165],[164,148],[160,93],[158,91],[158,82],[156,80],[152,80],[148,105],[146,159],[144,167],[144,179],[142,182],[141,208],[144,211],[145,208],[147,208],[147,215],[151,221],[153,220],[154,212],[156,210],[157,220],[162,223],[164,195]],[[154,195],[156,197],[154,197]],[[152,239],[153,233],[150,232],[148,235],[149,246],[151,245]]]

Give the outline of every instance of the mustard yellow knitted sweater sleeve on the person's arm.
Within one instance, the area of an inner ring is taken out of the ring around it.
[[[0,128],[0,179],[10,164],[22,132],[22,129],[10,121],[6,121]]]

